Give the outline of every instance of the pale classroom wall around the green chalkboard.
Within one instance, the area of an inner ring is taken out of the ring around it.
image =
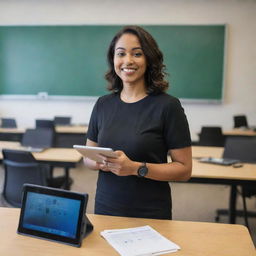
[[[0,25],[227,24],[223,103],[183,104],[194,140],[202,125],[232,128],[235,114],[246,114],[249,124],[256,125],[255,13],[255,0],[0,1]],[[36,118],[54,115],[71,115],[74,123],[87,123],[94,103],[93,98],[0,99],[0,116],[15,117],[20,127],[32,127]]]

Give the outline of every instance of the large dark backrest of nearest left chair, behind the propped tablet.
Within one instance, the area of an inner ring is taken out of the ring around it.
[[[47,185],[46,171],[30,152],[3,149],[5,169],[3,197],[14,207],[21,207],[24,183]]]

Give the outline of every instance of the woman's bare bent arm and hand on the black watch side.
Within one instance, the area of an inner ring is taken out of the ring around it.
[[[106,158],[107,163],[114,163],[116,167],[109,170],[119,176],[137,175],[141,162],[130,160],[123,151],[115,151],[119,155],[117,159]],[[172,162],[165,164],[147,163],[148,174],[146,178],[159,181],[185,181],[192,172],[191,147],[169,150]]]

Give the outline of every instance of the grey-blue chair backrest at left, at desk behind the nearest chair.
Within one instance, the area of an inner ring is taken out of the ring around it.
[[[24,147],[50,148],[54,143],[54,131],[47,128],[27,129],[22,136]]]

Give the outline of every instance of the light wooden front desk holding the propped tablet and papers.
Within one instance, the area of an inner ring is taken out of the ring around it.
[[[102,237],[100,231],[150,225],[166,238],[181,246],[179,256],[252,256],[255,248],[249,232],[242,225],[204,222],[183,222],[88,214],[93,232],[84,239],[81,248],[18,235],[19,209],[0,208],[0,255],[26,256],[115,256],[119,255]],[[165,254],[167,255],[167,254]]]

